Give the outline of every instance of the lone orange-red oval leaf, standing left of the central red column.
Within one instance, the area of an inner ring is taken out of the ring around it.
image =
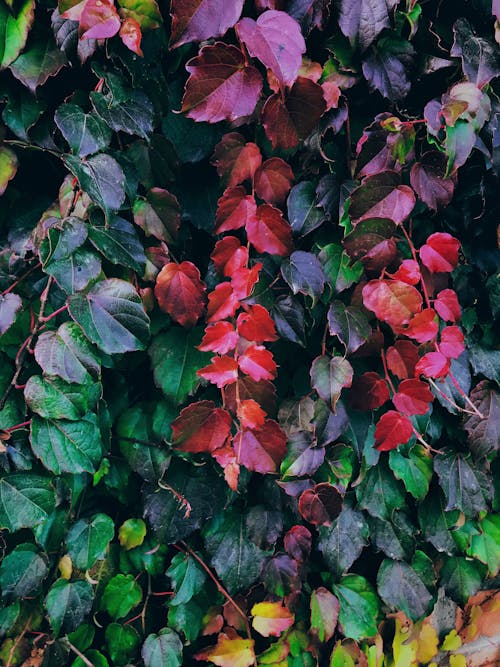
[[[205,306],[205,291],[205,283],[192,262],[169,262],[156,279],[158,305],[183,327],[196,324]]]

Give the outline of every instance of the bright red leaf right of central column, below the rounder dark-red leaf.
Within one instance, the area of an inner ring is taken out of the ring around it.
[[[292,228],[281,211],[270,204],[261,204],[257,214],[246,226],[248,240],[257,252],[286,257],[292,252]]]

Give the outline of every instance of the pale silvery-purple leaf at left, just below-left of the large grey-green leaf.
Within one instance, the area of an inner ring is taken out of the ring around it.
[[[35,359],[46,375],[84,384],[100,374],[98,358],[74,322],[64,322],[57,331],[44,331],[35,346]]]

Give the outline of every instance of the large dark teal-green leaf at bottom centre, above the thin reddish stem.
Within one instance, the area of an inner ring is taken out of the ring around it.
[[[203,536],[211,564],[229,593],[248,590],[266,554],[248,538],[245,515],[234,509],[218,514],[205,525]]]

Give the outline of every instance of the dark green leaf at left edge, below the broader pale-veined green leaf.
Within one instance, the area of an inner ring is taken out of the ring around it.
[[[2,598],[11,601],[33,595],[48,572],[47,559],[34,544],[18,544],[0,565]]]

